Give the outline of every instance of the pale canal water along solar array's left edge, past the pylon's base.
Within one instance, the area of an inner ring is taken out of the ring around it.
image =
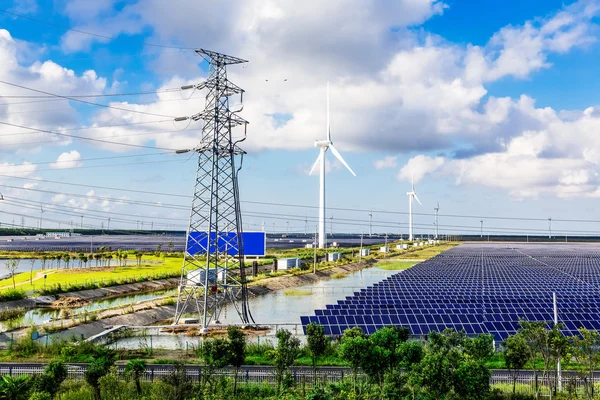
[[[319,281],[308,286],[299,286],[287,290],[271,292],[250,299],[250,310],[254,321],[259,325],[269,325],[273,328],[285,328],[294,335],[303,336],[300,317],[314,315],[315,309],[325,308],[337,300],[351,296],[362,288],[381,282],[385,278],[401,273],[401,271],[386,271],[371,267],[351,273],[341,279]],[[292,292],[293,291],[293,292]],[[288,294],[286,294],[288,292]],[[300,293],[300,295],[291,295]],[[220,322],[223,324],[240,324],[241,320],[232,305],[223,310]],[[248,337],[249,342],[274,341],[275,331],[265,332],[260,336]],[[266,337],[265,337],[266,336]],[[156,330],[148,329],[142,337],[119,339],[113,346],[116,348],[138,349],[151,345],[162,349],[188,349],[197,346],[202,340],[199,337],[185,335],[159,334]]]

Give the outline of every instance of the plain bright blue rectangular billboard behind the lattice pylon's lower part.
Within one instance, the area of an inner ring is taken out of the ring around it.
[[[186,251],[190,255],[203,254],[207,252],[208,240],[206,232],[190,232],[187,240]],[[215,233],[211,233],[210,252],[214,253]],[[265,232],[243,232],[244,255],[249,257],[261,257],[266,254],[267,239]],[[231,256],[238,254],[238,241],[235,232],[219,232],[219,238],[216,241],[219,253],[227,252]]]

